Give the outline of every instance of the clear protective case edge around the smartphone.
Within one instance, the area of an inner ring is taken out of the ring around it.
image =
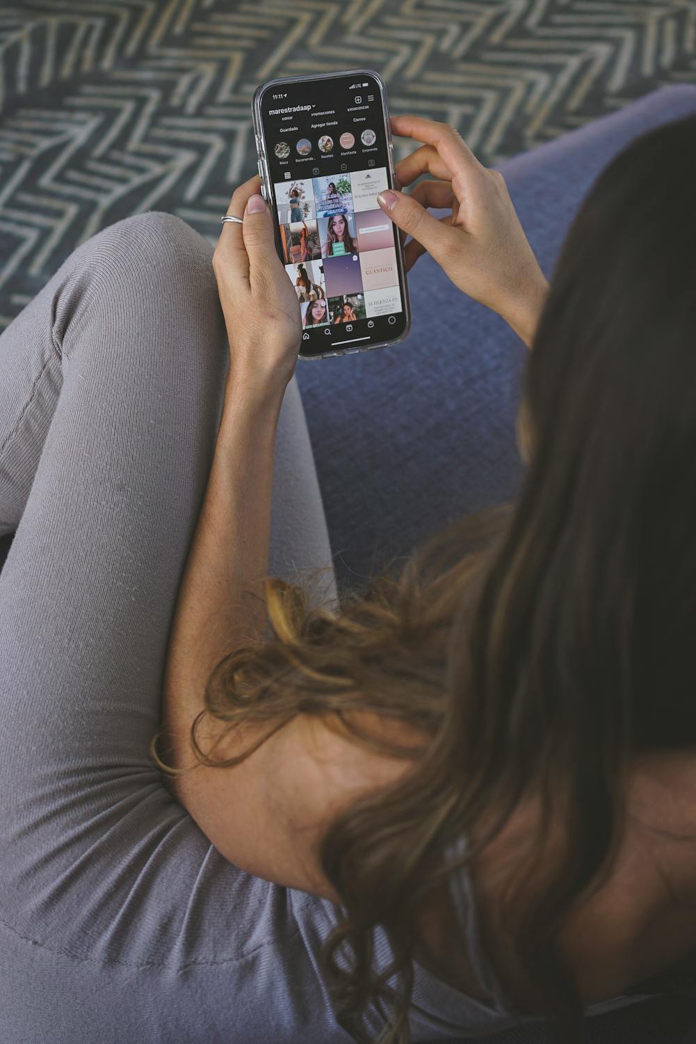
[[[266,142],[263,134],[263,125],[261,122],[261,95],[269,87],[282,87],[285,84],[302,84],[302,82],[320,82],[322,79],[334,79],[336,77],[354,76],[359,77],[363,73],[369,76],[374,76],[380,88],[380,99],[382,103],[382,117],[384,119],[384,130],[386,135],[387,142],[387,181],[388,187],[390,189],[395,187],[395,174],[393,167],[393,145],[391,142],[391,128],[389,126],[389,110],[387,105],[387,92],[386,85],[380,74],[374,69],[342,69],[340,72],[325,72],[311,74],[309,76],[283,76],[278,79],[268,79],[264,84],[261,84],[254,92],[254,98],[251,99],[251,115],[254,120],[254,137],[256,140],[257,148],[257,162],[259,166],[259,174],[261,175],[261,193],[265,199],[269,198],[269,193],[266,191],[266,187],[270,184],[270,175],[268,172],[268,167],[266,164]],[[390,345],[398,345],[400,341],[404,340],[407,336],[409,330],[411,329],[411,305],[408,296],[408,282],[406,280],[406,265],[404,259],[404,247],[401,242],[401,236],[397,237],[397,265],[399,268],[399,286],[401,289],[403,302],[404,302],[404,317],[405,325],[403,333],[399,334],[398,337],[393,337],[389,340],[381,340],[374,345],[367,345],[365,348],[343,348],[336,349],[331,352],[322,352],[320,355],[303,355],[299,352],[301,359],[327,359],[332,355],[351,355],[355,352],[370,352],[375,348],[388,348]]]

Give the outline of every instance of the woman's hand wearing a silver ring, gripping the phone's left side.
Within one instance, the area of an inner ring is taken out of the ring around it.
[[[282,400],[302,345],[302,313],[260,187],[255,174],[233,192],[226,213],[244,223],[222,223],[213,270],[230,342],[227,384],[263,398],[280,394]],[[249,208],[253,200],[261,203],[259,210]]]

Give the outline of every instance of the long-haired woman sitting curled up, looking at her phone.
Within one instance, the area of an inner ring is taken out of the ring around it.
[[[401,184],[438,179],[388,211],[408,267],[532,348],[515,503],[398,582],[295,586],[332,548],[258,177],[213,265],[145,212],[0,335],[3,1039],[338,1044],[393,1007],[388,1044],[526,1011],[575,1044],[578,996],[696,945],[696,117],[604,171],[550,290],[503,179],[391,125],[424,143]]]

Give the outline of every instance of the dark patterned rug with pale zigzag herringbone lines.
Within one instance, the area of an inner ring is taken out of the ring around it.
[[[0,8],[0,330],[94,233],[144,210],[211,243],[256,171],[273,76],[368,67],[392,113],[506,158],[696,82],[696,0],[22,0]],[[415,144],[394,142],[394,160]]]

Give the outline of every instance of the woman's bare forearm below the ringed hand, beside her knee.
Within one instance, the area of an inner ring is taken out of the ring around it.
[[[283,395],[260,397],[241,384],[237,388],[227,386],[167,649],[162,727],[176,737],[179,755],[190,745],[191,722],[203,709],[203,689],[214,666],[266,630],[260,577],[268,569]],[[167,743],[162,750],[167,751]],[[183,767],[176,759],[172,763]]]

